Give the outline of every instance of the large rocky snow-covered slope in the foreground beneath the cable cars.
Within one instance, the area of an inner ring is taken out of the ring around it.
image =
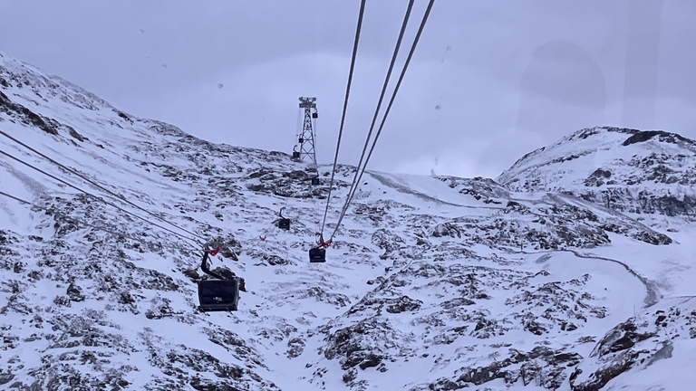
[[[30,203],[0,196],[2,389],[690,389],[687,221],[372,172],[309,263],[330,167],[312,186],[283,153],[134,118],[0,55],[0,192]],[[197,309],[211,239],[213,265],[246,279],[236,312]]]

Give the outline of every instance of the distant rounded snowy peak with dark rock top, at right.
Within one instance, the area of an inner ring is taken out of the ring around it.
[[[498,182],[570,192],[614,210],[696,216],[696,141],[661,130],[582,129],[517,160]]]

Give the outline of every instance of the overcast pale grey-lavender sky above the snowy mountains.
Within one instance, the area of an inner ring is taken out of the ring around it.
[[[236,146],[291,152],[297,98],[315,96],[330,163],[359,3],[1,0],[0,51]],[[367,1],[343,163],[357,163],[406,5]],[[696,138],[695,20],[691,0],[436,0],[369,168],[494,177],[597,125]]]

